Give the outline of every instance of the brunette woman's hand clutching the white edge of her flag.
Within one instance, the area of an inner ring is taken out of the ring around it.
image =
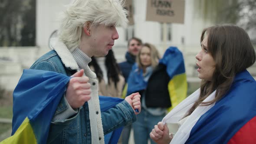
[[[154,126],[149,135],[157,144],[169,144],[173,138],[172,134],[169,135],[167,124],[163,124],[161,121],[158,122],[158,125]]]

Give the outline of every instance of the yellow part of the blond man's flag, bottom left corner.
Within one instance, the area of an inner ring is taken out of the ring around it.
[[[30,120],[25,118],[13,136],[1,141],[0,144],[36,144],[36,137]]]

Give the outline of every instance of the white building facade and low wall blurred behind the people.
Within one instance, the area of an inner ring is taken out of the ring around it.
[[[132,36],[142,39],[144,43],[154,44],[161,54],[169,46],[177,46],[184,55],[188,82],[200,82],[197,78],[195,56],[200,50],[200,35],[203,28],[212,25],[197,15],[195,0],[185,0],[184,23],[167,23],[146,21],[147,0],[132,0],[134,25],[128,28],[117,27],[119,39],[115,41],[113,51],[118,62],[125,60],[127,40]],[[36,47],[0,49],[0,56],[11,61],[0,61],[0,86],[13,90],[22,74],[33,62],[49,51],[49,36],[59,27],[59,14],[71,0],[36,0]],[[166,33],[166,42],[163,38]],[[248,69],[256,76],[256,66]],[[13,73],[12,73],[13,72]]]

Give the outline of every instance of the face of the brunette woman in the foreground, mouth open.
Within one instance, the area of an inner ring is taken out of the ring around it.
[[[207,81],[211,81],[213,79],[213,72],[215,70],[215,61],[213,56],[211,56],[210,52],[208,52],[207,42],[208,36],[205,36],[201,43],[201,50],[196,55],[196,59],[198,60],[197,69],[198,78],[204,79]]]

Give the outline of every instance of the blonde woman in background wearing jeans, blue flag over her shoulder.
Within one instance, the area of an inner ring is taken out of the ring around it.
[[[134,130],[135,144],[147,144],[149,133],[154,128],[154,124],[164,118],[166,108],[148,108],[145,104],[145,90],[148,79],[158,65],[160,56],[150,43],[145,43],[140,49],[136,58],[136,64],[128,78],[127,94],[139,92],[141,95],[141,115],[138,115],[137,121],[132,124]],[[157,96],[157,95],[156,95]],[[151,141],[154,144],[154,141]]]

